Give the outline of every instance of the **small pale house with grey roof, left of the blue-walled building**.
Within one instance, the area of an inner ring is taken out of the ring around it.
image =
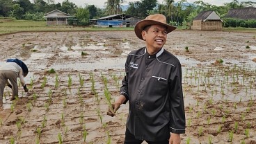
[[[61,10],[52,10],[51,12],[45,14],[45,18],[47,19],[46,23],[48,26],[56,26],[67,25],[67,19],[74,17],[66,14],[65,12],[61,12]]]

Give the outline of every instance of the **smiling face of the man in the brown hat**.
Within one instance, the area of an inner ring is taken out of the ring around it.
[[[147,48],[157,52],[166,44],[166,26],[152,25],[142,31],[142,37],[146,42]]]

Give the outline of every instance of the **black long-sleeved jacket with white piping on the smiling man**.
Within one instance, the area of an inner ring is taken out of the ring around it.
[[[120,94],[129,100],[127,128],[146,141],[185,132],[182,68],[179,60],[163,48],[149,55],[146,48],[129,53]],[[126,102],[127,102],[126,101]]]

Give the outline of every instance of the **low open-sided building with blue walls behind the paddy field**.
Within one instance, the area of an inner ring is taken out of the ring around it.
[[[140,18],[132,17],[131,15],[118,14],[101,17],[99,19],[90,19],[90,24],[105,28],[134,27],[140,20]]]

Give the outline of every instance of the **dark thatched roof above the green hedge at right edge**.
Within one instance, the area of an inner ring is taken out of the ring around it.
[[[236,8],[229,10],[226,17],[235,19],[256,19],[256,8]]]

